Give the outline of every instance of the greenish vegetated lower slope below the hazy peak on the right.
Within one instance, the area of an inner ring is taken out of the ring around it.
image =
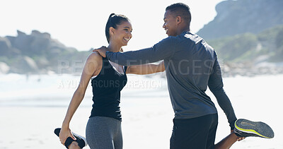
[[[246,32],[231,37],[207,41],[219,55],[229,62],[283,61],[283,25],[258,34]]]

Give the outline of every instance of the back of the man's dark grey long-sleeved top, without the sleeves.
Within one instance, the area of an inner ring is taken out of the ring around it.
[[[183,32],[171,40],[175,40],[171,47],[174,52],[164,59],[164,64],[175,118],[216,113],[214,103],[205,94],[216,61],[214,49],[191,32]]]

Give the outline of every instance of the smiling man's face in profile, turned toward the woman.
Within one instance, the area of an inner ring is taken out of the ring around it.
[[[171,11],[166,11],[164,14],[163,28],[168,36],[177,36],[177,20]]]

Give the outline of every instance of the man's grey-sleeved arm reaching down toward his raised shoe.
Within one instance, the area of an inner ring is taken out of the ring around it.
[[[223,89],[223,82],[221,77],[221,68],[219,66],[219,63],[217,59],[215,60],[214,66],[213,66],[213,72],[209,76],[209,90],[212,91],[214,96],[216,97],[216,100],[223,109],[224,113],[226,114],[226,117],[229,121],[231,130],[234,129],[234,123],[237,120],[236,115],[234,113],[233,107],[231,105],[231,102],[229,100],[229,97],[226,95],[224,89]]]

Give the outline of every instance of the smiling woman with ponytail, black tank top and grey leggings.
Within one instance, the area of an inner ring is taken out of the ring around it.
[[[108,18],[105,35],[108,40],[108,50],[122,51],[122,46],[132,38],[132,25],[129,19],[112,13]],[[81,74],[81,81],[76,89],[66,117],[64,118],[59,138],[62,144],[68,137],[74,138],[69,129],[69,123],[74,112],[79,107],[86,92],[88,82],[93,87],[93,109],[86,126],[86,140],[91,148],[120,149],[122,148],[120,91],[127,83],[126,73],[149,74],[164,71],[163,62],[140,66],[119,66],[93,52],[86,59]],[[74,143],[74,142],[73,142]],[[72,143],[72,145],[73,145]],[[73,148],[72,145],[69,148]],[[78,148],[74,144],[74,148]]]

